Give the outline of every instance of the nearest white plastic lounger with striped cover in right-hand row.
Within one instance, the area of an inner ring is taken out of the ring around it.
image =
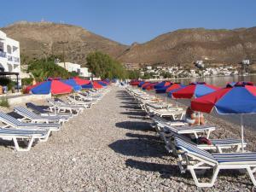
[[[176,137],[175,143],[177,148],[183,152],[179,154],[178,164],[186,165],[197,187],[212,187],[218,176],[219,170],[247,170],[249,177],[254,186],[256,186],[255,177],[253,173],[256,171],[256,153],[230,153],[230,154],[210,154],[209,152],[197,148],[196,146],[184,142],[182,139]],[[199,182],[195,171],[204,171],[212,169],[213,174],[209,183]]]

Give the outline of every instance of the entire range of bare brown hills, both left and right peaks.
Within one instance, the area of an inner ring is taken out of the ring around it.
[[[256,27],[235,30],[183,29],[160,35],[145,44],[119,44],[79,26],[50,22],[19,22],[1,28],[20,41],[21,54],[30,57],[61,55],[65,44],[66,61],[85,64],[90,51],[101,50],[124,63],[188,65],[237,63],[256,60]]]

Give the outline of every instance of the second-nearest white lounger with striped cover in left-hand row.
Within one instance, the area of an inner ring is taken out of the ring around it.
[[[38,124],[21,122],[20,120],[15,119],[9,114],[3,112],[0,112],[0,121],[6,124],[5,126],[3,126],[3,128],[13,127],[17,129],[42,129],[47,131],[59,131],[61,129],[60,124]]]

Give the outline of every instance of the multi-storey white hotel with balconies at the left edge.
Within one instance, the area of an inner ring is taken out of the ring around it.
[[[20,74],[20,43],[12,38],[8,38],[4,32],[0,31],[0,73],[14,73],[13,80]],[[20,84],[20,80],[19,80]]]

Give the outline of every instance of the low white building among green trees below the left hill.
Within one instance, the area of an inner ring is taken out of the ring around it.
[[[65,68],[68,72],[76,72],[79,73],[79,76],[84,78],[90,78],[91,73],[89,73],[87,67],[81,67],[79,64],[72,62],[57,62],[58,66]]]

